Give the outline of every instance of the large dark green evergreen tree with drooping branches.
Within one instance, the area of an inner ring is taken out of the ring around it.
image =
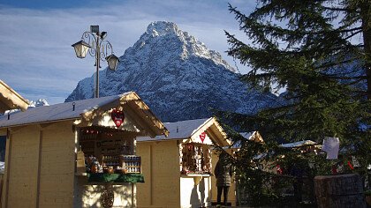
[[[252,40],[226,32],[228,54],[252,68],[244,79],[263,90],[286,89],[282,106],[233,115],[241,127],[265,139],[337,135],[353,145],[370,137],[360,129],[371,120],[369,0],[260,0],[248,16],[229,9]]]

